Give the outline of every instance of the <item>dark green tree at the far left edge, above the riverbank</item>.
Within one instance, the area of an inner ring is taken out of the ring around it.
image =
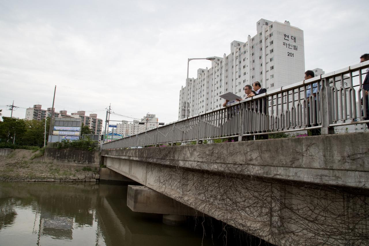
[[[4,117],[0,122],[0,141],[7,143],[9,140],[13,141],[15,136],[15,143],[20,143],[27,126],[24,119]]]

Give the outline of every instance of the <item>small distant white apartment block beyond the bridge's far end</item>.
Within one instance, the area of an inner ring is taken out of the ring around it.
[[[141,121],[133,120],[133,122],[128,122],[127,120],[122,120],[122,123],[117,124],[116,133],[123,135],[123,137],[136,135],[158,127],[158,120],[155,115],[149,113],[141,118]],[[140,122],[143,124],[139,124]]]

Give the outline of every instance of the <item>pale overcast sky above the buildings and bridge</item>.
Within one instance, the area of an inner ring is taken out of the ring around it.
[[[270,3],[269,3],[270,2]],[[230,54],[256,22],[290,21],[304,31],[305,69],[326,73],[369,52],[369,1],[0,0],[0,109],[85,110],[159,122],[178,118],[187,58]],[[210,61],[191,61],[190,77]],[[301,75],[302,77],[303,75]],[[297,82],[297,81],[296,81]],[[130,118],[111,116],[113,120]]]

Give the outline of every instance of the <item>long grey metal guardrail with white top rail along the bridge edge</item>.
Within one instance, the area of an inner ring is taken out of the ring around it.
[[[266,92],[166,124],[135,136],[111,141],[101,149],[264,135],[367,123],[368,97],[362,97],[369,61]],[[368,75],[369,76],[369,75]],[[307,93],[317,89],[316,96]],[[358,100],[358,102],[356,102]],[[361,100],[362,105],[361,105]],[[363,108],[363,110],[361,109]],[[362,114],[363,112],[363,114]]]

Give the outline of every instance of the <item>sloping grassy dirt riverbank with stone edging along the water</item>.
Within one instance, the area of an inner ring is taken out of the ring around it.
[[[0,156],[0,180],[96,182],[99,168],[44,162],[39,151],[16,149]]]

